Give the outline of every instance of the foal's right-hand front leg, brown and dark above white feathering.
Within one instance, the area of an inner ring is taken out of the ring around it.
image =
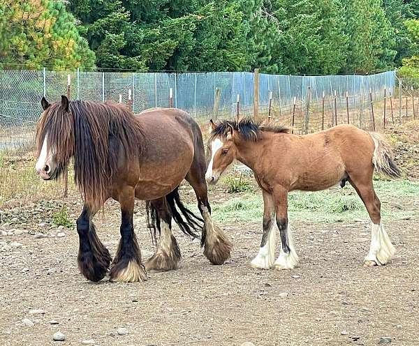
[[[274,202],[277,210],[277,226],[281,234],[281,250],[274,263],[274,269],[293,269],[297,265],[298,255],[288,227],[288,191],[284,188],[275,190]]]

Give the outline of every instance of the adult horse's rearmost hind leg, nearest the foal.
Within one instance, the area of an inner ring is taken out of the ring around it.
[[[211,206],[208,202],[207,183],[205,181],[205,157],[196,153],[193,158],[191,170],[185,179],[196,193],[198,209],[204,219],[204,227],[201,236],[201,246],[204,247],[204,255],[212,264],[223,264],[230,257],[233,245],[227,239],[226,234],[214,225],[211,216]]]

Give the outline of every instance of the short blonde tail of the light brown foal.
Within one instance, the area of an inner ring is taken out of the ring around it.
[[[390,176],[390,178],[399,178],[402,176],[399,167],[397,167],[393,160],[390,144],[386,143],[378,133],[371,132],[369,135],[371,135],[375,145],[372,163],[376,172]]]

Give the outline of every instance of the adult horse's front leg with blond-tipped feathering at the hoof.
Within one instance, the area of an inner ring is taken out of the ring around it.
[[[110,281],[134,282],[147,280],[147,272],[141,260],[140,248],[134,233],[134,188],[127,186],[118,196],[121,204],[121,239],[117,255],[110,269]]]

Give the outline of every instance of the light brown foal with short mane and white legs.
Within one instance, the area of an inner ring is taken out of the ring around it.
[[[264,127],[251,119],[210,121],[211,153],[206,179],[216,183],[235,159],[253,170],[263,191],[263,236],[253,268],[293,269],[298,257],[288,228],[288,192],[318,191],[349,181],[372,220],[372,241],[365,265],[385,264],[395,253],[381,225],[380,201],[374,192],[374,167],[390,177],[400,176],[390,146],[377,133],[339,125],[311,135],[291,135],[283,127]],[[275,225],[281,250],[275,261]],[[275,261],[275,262],[274,262]]]

